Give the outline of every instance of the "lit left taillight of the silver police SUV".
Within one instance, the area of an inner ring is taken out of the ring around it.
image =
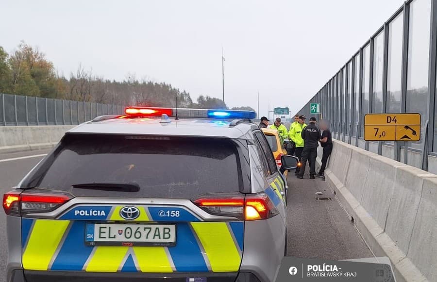
[[[20,193],[11,191],[3,195],[3,209],[7,215],[22,216],[30,213],[47,213],[72,199],[65,194]]]

